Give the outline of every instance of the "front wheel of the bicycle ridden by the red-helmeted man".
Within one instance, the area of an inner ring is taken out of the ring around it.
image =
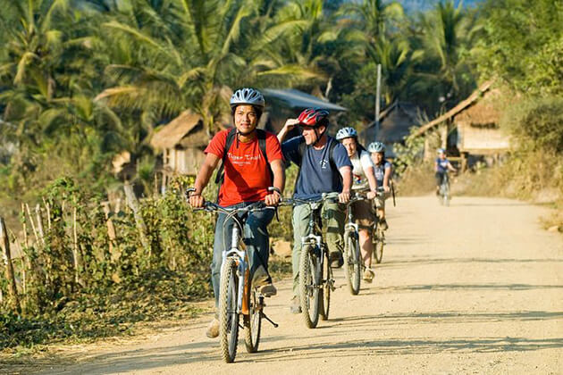
[[[304,246],[299,262],[299,299],[307,328],[314,329],[319,322],[320,262],[314,248]]]

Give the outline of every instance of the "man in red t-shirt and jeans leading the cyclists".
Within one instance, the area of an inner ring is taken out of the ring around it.
[[[272,133],[265,133],[265,155],[262,154],[257,137],[256,126],[265,108],[262,94],[253,88],[241,88],[231,96],[231,111],[236,134],[228,150],[225,150],[227,137],[231,129],[215,134],[205,153],[206,159],[197,173],[195,191],[189,195],[189,204],[202,207],[202,191],[207,186],[214,169],[223,155],[224,180],[219,190],[219,204],[223,207],[244,207],[245,205],[265,201],[267,205],[280,202],[285,184],[283,155],[278,138]],[[273,177],[269,167],[272,169]],[[273,187],[273,191],[268,188]],[[211,280],[215,295],[215,307],[218,306],[221,263],[223,262],[224,244],[231,243],[232,219],[223,226],[226,219],[220,213],[215,223],[213,262]],[[269,236],[267,226],[273,219],[273,210],[250,212],[243,229],[243,238],[247,246],[250,278],[265,296],[274,296],[276,289],[268,273]],[[224,242],[223,242],[224,233]],[[219,321],[216,317],[209,324],[207,337],[219,336]]]

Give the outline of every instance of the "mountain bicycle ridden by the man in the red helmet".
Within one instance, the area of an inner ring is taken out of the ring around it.
[[[308,204],[309,234],[301,237],[301,258],[299,260],[299,304],[305,325],[314,329],[319,321],[329,317],[331,291],[334,277],[330,266],[328,246],[324,242],[321,222],[321,208],[324,201],[338,199],[338,193],[324,193],[321,199],[285,199],[283,205]]]

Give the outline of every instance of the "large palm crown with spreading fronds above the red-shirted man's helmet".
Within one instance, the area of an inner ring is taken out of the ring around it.
[[[170,117],[186,107],[199,112],[206,129],[229,112],[228,100],[236,84],[260,84],[267,79],[299,78],[306,71],[260,54],[279,31],[262,36],[243,30],[263,5],[250,0],[131,1],[102,26],[106,40],[133,46],[122,62],[106,67],[115,86],[97,100],[111,106]],[[251,42],[250,37],[257,37]]]

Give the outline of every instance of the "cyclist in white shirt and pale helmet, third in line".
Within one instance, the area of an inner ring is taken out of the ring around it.
[[[350,162],[352,162],[352,190],[363,191],[369,189],[368,199],[374,199],[377,195],[377,181],[374,175],[374,163],[370,154],[361,146],[357,140],[357,131],[354,128],[342,128],[336,133],[336,140],[348,152]],[[357,223],[359,245],[362,251],[362,259],[366,270],[364,279],[372,282],[374,271],[372,270],[372,228],[374,227],[375,212],[371,201],[357,201],[352,205],[352,212]]]

